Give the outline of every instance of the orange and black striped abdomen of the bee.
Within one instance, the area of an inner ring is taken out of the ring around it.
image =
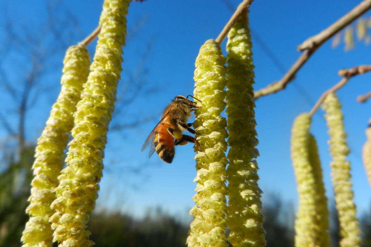
[[[160,158],[171,163],[174,158],[174,137],[167,131],[167,127],[171,127],[170,124],[162,123],[155,130],[154,144],[155,150]]]

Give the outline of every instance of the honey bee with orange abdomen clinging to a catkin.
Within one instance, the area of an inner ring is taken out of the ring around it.
[[[197,103],[189,100],[189,96],[191,95],[188,95],[187,98],[180,95],[176,96],[165,108],[160,122],[152,130],[142,146],[142,151],[150,147],[148,157],[151,157],[156,150],[158,156],[163,161],[171,163],[174,158],[176,145],[184,145],[192,142],[194,146],[200,146],[196,138],[182,134],[184,130],[188,130],[192,134],[197,134],[196,131],[190,128],[193,123],[187,124],[187,120],[191,116],[191,111],[201,108],[201,106],[196,106]],[[191,97],[196,99],[193,96]]]

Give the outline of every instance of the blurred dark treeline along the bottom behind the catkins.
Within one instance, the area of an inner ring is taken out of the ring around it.
[[[10,155],[6,166],[0,167],[0,247],[18,247],[24,225],[32,180],[34,146]],[[15,158],[18,156],[19,158]],[[278,194],[263,200],[267,247],[293,247],[295,210],[292,203],[282,201]],[[334,205],[334,203],[332,203]],[[189,221],[178,220],[160,208],[149,210],[137,219],[128,214],[94,212],[88,230],[96,247],[185,247]],[[180,217],[184,217],[181,215]],[[334,206],[330,209],[331,247],[338,247],[339,222]],[[371,205],[360,217],[362,247],[371,247]],[[58,244],[54,244],[58,246]]]

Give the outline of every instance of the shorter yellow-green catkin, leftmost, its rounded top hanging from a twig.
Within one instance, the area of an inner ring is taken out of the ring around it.
[[[80,100],[82,84],[89,75],[90,58],[85,47],[72,46],[63,61],[62,89],[52,107],[46,127],[37,142],[30,205],[26,212],[30,220],[23,231],[23,247],[52,246],[49,217],[55,213],[50,204],[55,200],[54,188],[63,167],[64,150],[73,127],[73,113]]]

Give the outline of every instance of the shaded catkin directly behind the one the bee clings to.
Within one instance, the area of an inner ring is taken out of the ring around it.
[[[254,65],[247,12],[239,17],[227,42],[228,240],[235,247],[265,246],[262,191],[257,181],[259,156],[255,130]]]

